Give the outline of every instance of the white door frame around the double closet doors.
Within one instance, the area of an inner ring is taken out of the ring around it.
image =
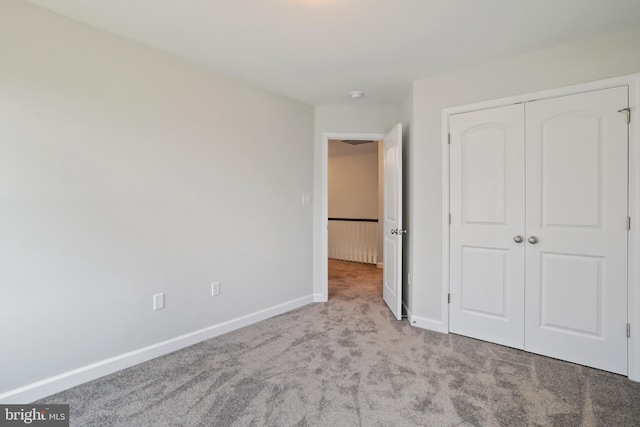
[[[628,377],[640,381],[640,74],[630,74],[585,84],[567,86],[541,92],[516,95],[491,101],[479,102],[442,110],[442,329],[449,332],[449,116],[476,110],[503,107],[533,100],[575,95],[583,92],[608,89],[617,86],[629,87],[629,186],[628,215],[631,217],[627,246],[627,318],[631,325],[628,338]],[[622,113],[621,113],[622,114]],[[623,331],[621,331],[623,333]]]

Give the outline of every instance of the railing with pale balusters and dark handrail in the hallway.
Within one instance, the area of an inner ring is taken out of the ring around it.
[[[329,218],[329,258],[378,262],[378,221]]]

